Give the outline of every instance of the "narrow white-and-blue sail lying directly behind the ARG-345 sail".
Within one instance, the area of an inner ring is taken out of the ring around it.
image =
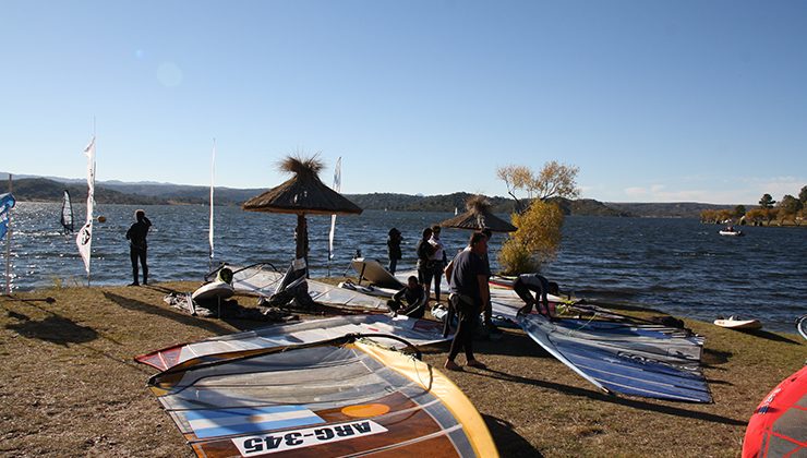
[[[312,320],[302,323],[267,326],[244,333],[217,336],[197,342],[182,343],[135,358],[160,371],[169,370],[193,359],[215,361],[220,354],[284,347],[300,342],[328,340],[348,334],[385,334],[406,339],[415,347],[448,340],[443,337],[443,325],[429,320],[407,316],[349,315]],[[396,339],[376,338],[390,348],[404,348]]]

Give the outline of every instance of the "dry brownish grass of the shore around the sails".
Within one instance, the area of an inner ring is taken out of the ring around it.
[[[155,371],[132,358],[265,325],[192,317],[162,301],[196,287],[53,288],[0,299],[0,455],[192,456],[145,387]],[[686,324],[707,338],[714,403],[603,395],[520,330],[477,343],[489,370],[448,376],[482,413],[503,456],[736,457],[751,412],[802,367],[807,345],[794,334]],[[424,360],[442,367],[445,352],[426,349]]]

